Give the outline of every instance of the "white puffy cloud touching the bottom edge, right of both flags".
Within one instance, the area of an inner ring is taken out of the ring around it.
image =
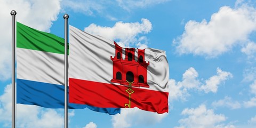
[[[179,120],[179,127],[234,127],[233,125],[221,124],[227,117],[223,114],[214,114],[212,109],[207,109],[205,105],[197,108],[186,108],[181,115],[188,116]]]

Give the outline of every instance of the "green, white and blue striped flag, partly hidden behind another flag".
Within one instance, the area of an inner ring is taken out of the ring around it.
[[[17,22],[17,103],[64,108],[65,40]],[[111,115],[119,108],[97,108],[69,103],[68,108],[89,108]]]

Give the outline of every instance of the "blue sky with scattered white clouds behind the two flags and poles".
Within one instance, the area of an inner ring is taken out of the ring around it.
[[[2,0],[0,127],[11,127],[11,10],[17,21],[63,37],[69,25],[123,46],[166,51],[169,114],[69,110],[69,127],[255,127],[254,1]],[[63,127],[62,109],[17,105],[18,127]]]

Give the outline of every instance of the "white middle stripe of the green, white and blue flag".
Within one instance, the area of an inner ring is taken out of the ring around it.
[[[17,78],[64,85],[64,55],[17,48]]]

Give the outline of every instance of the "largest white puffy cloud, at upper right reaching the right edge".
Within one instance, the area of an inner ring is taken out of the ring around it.
[[[245,4],[231,9],[223,6],[211,15],[207,22],[190,20],[183,34],[174,39],[177,52],[193,53],[207,58],[230,51],[236,44],[247,43],[249,35],[256,30],[256,9]]]

